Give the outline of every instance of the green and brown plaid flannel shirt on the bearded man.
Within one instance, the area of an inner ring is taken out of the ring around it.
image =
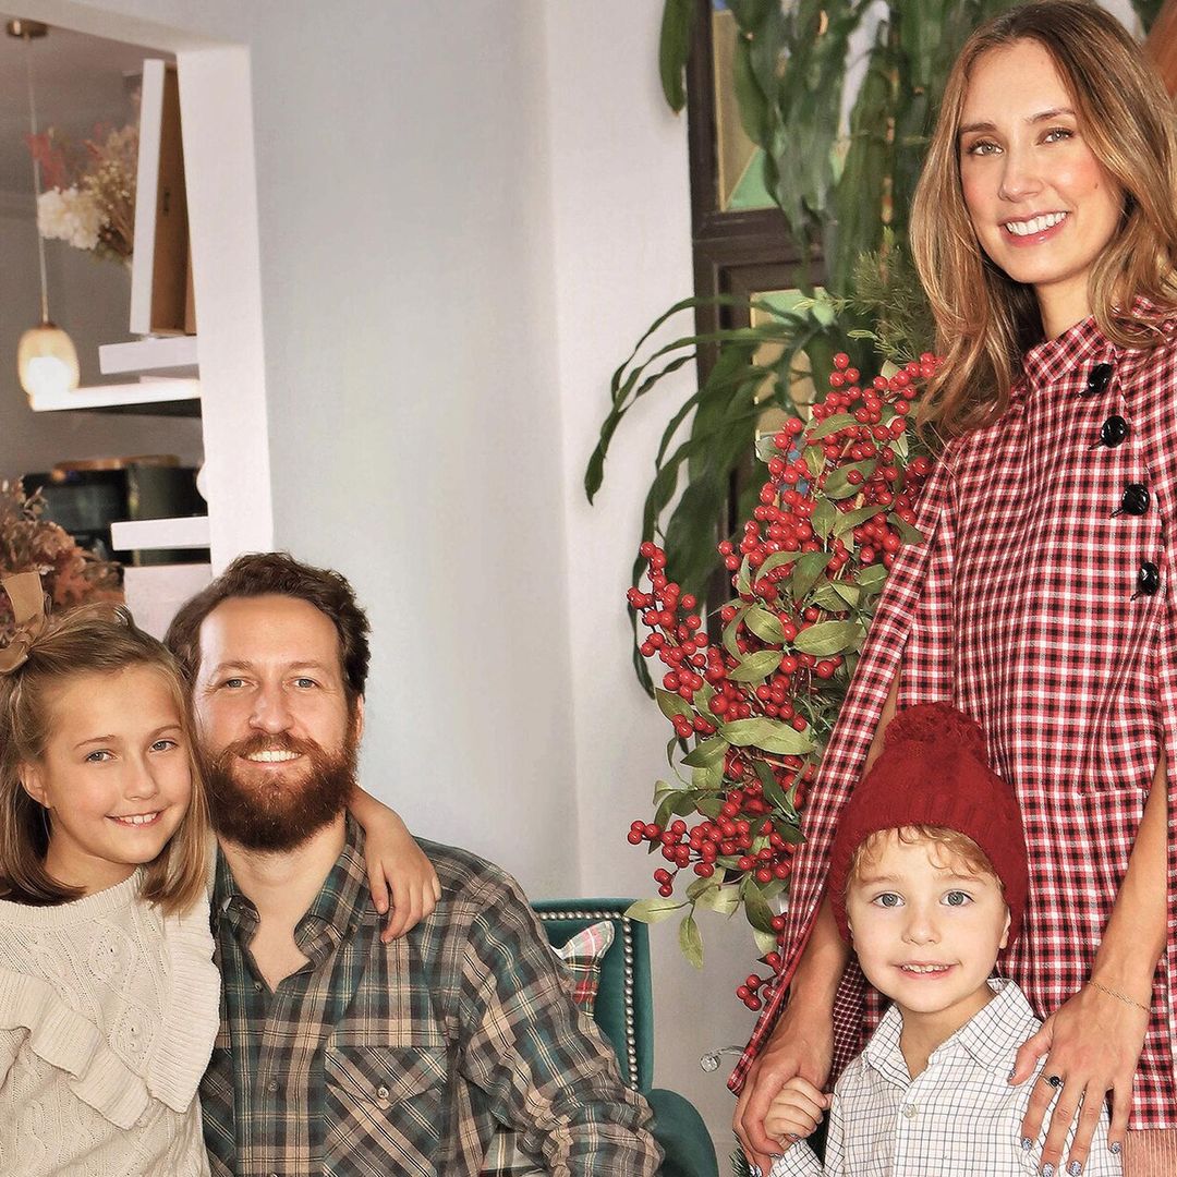
[[[645,1100],[568,983],[518,885],[423,843],[441,902],[381,944],[363,831],[295,929],[308,964],[275,992],[253,905],[222,857],[213,923],[221,1029],[201,1085],[213,1173],[478,1173],[499,1124],[553,1173],[652,1175]]]

